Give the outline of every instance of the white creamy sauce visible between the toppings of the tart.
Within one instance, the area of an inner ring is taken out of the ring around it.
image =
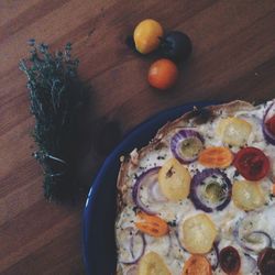
[[[262,127],[261,121],[263,119],[265,108],[268,106],[262,105],[258,108],[256,108],[253,111],[250,112],[238,112],[235,117],[241,118],[243,120],[246,120],[252,125],[252,133],[249,136],[248,140],[248,146],[254,146],[257,148],[261,148],[270,158],[271,162],[271,176],[264,178],[261,180],[261,186],[265,190],[266,201],[267,204],[262,208],[257,209],[255,211],[245,212],[237,208],[231,200],[230,204],[221,211],[213,211],[210,213],[207,213],[213,223],[216,224],[216,228],[218,229],[218,241],[219,241],[219,250],[221,250],[224,246],[232,245],[234,246],[241,256],[241,273],[243,275],[249,274],[257,274],[257,270],[253,270],[253,262],[256,256],[248,256],[245,255],[246,251],[244,251],[240,244],[238,243],[237,239],[233,237],[233,230],[235,229],[238,222],[244,222],[245,220],[250,221],[250,228],[245,230],[262,230],[266,233],[268,233],[273,242],[275,244],[275,199],[273,199],[270,196],[271,187],[274,180],[275,176],[275,146],[267,144],[264,135],[262,133]],[[217,136],[216,133],[216,127],[220,119],[216,119],[211,123],[202,124],[196,128],[196,131],[200,132],[201,135],[205,139],[205,146],[222,146],[222,142],[220,141],[219,136]],[[177,129],[178,131],[178,129]],[[168,136],[166,136],[165,140],[166,144],[169,144],[169,139],[173,135],[170,133]],[[231,147],[232,152],[238,152],[239,147]],[[162,166],[167,160],[173,157],[172,151],[169,146],[164,146],[161,150],[152,151],[150,154],[146,154],[142,160],[139,162],[139,166],[135,168],[132,168],[132,170],[129,172],[129,178],[128,182],[129,185],[129,194],[128,194],[128,206],[124,207],[123,211],[120,213],[119,219],[117,220],[116,224],[116,232],[117,232],[117,242],[118,246],[123,246],[122,241],[120,239],[120,230],[125,229],[128,227],[134,227],[134,222],[136,221],[135,216],[135,209],[134,204],[132,200],[132,187],[134,186],[136,178],[142,175],[145,170],[152,168]],[[185,165],[190,175],[194,176],[196,173],[201,172],[206,167],[200,165],[198,162],[194,162],[190,165]],[[243,180],[244,178],[235,173],[235,168],[231,165],[230,167],[223,169],[223,172],[227,174],[228,178],[233,184],[234,180]],[[141,193],[143,201],[148,200],[148,197],[146,197],[146,193]],[[162,237],[162,238],[153,238],[153,237],[145,237],[145,253],[150,251],[154,251],[158,253],[164,262],[166,263],[168,270],[173,275],[182,274],[183,266],[185,261],[190,256],[188,252],[183,250],[183,246],[180,245],[177,234],[179,235],[179,239],[182,239],[182,230],[180,226],[183,222],[194,215],[197,215],[199,212],[204,212],[202,210],[196,209],[196,207],[193,205],[190,199],[184,199],[178,202],[172,202],[166,201],[163,204],[160,204],[155,210],[157,210],[157,215],[163,218],[168,224],[174,223],[170,227],[170,231],[168,235]],[[139,248],[139,245],[135,245]],[[254,258],[254,260],[253,260]],[[120,264],[123,271],[127,271],[129,268],[129,265]],[[252,271],[253,270],[253,271]],[[125,274],[125,272],[123,273]],[[224,274],[220,267],[218,267],[213,274]]]

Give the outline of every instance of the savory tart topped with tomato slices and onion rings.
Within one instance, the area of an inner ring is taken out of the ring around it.
[[[117,274],[275,274],[275,100],[195,108],[121,161]]]

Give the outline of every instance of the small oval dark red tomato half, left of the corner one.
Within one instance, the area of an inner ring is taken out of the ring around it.
[[[220,251],[221,270],[227,274],[238,274],[241,267],[241,257],[233,246],[227,246]]]

